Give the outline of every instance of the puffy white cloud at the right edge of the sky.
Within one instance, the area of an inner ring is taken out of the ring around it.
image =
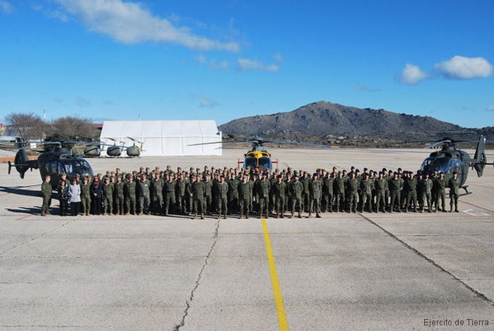
[[[447,78],[453,79],[486,78],[493,75],[493,65],[482,57],[457,55],[435,64],[434,68]]]

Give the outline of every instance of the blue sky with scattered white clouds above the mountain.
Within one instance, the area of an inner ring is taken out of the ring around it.
[[[0,0],[0,121],[325,100],[494,126],[494,1]]]

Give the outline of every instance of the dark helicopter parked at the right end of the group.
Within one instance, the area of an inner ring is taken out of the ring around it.
[[[458,150],[457,143],[475,142],[477,148],[474,158],[471,158],[468,152]],[[483,169],[488,163],[486,159],[486,138],[480,136],[478,140],[454,140],[452,138],[442,138],[442,140],[434,141],[427,144],[429,148],[441,148],[437,152],[430,153],[426,160],[423,160],[420,167],[421,172],[433,174],[434,171],[445,174],[446,181],[449,181],[456,171],[460,182],[460,187],[463,188],[466,194],[470,194],[467,190],[468,185],[464,185],[466,177],[469,174],[469,168],[472,167],[477,172],[477,176],[483,175]]]

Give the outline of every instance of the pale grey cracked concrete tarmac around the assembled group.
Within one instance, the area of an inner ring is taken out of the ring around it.
[[[90,163],[234,167],[244,152]],[[294,169],[416,170],[430,150],[272,152]],[[41,217],[39,171],[0,167],[2,329],[279,329],[260,219]],[[459,213],[267,219],[289,328],[494,330],[494,169],[467,183]]]

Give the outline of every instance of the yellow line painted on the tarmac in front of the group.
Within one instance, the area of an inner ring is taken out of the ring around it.
[[[276,271],[275,256],[272,254],[270,234],[267,231],[266,219],[262,219],[264,241],[266,243],[267,263],[270,265],[272,294],[275,297],[276,313],[278,315],[279,331],[288,331],[287,313],[284,311],[282,288],[279,286],[278,272]]]

